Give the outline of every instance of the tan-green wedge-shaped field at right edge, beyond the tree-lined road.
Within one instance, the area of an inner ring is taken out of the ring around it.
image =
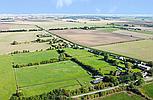
[[[153,61],[153,40],[119,43],[94,48],[146,61]]]

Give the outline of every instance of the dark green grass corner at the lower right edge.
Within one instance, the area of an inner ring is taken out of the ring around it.
[[[153,83],[144,85],[140,90],[153,99]]]

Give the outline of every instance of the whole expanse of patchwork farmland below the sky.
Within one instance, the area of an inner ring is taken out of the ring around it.
[[[0,22],[0,100],[153,99],[153,34],[137,21],[33,15]]]

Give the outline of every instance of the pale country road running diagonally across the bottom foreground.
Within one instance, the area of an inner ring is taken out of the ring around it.
[[[98,92],[103,92],[103,91],[112,90],[112,89],[115,89],[115,88],[118,88],[118,87],[119,87],[119,86],[109,87],[109,88],[107,88],[107,89],[102,89],[102,90],[97,90],[97,91],[93,91],[93,92],[89,92],[89,93],[84,93],[84,94],[72,96],[71,98],[78,98],[78,97],[82,97],[82,96],[86,96],[86,95],[91,95],[91,94],[95,94],[95,93],[98,93]]]

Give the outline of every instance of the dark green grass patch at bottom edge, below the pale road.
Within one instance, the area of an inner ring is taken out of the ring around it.
[[[128,94],[127,92],[121,92],[94,100],[144,100],[144,99],[135,94]]]

